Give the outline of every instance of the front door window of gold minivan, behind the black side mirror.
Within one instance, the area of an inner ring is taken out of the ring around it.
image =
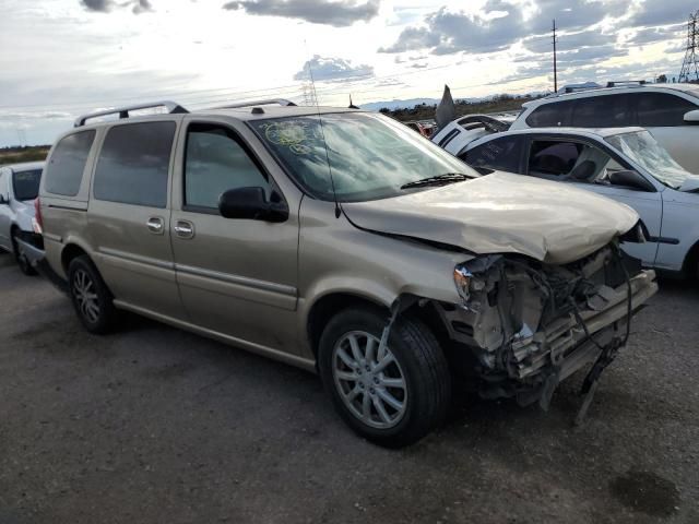
[[[185,204],[218,209],[218,198],[229,189],[264,188],[270,182],[248,156],[235,134],[211,124],[192,124],[187,133]]]

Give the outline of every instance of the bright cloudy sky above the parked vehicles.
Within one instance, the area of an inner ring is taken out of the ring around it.
[[[679,73],[699,0],[1,0],[0,147],[173,99],[321,105]]]

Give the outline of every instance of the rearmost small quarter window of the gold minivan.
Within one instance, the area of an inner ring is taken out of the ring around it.
[[[81,131],[61,140],[46,168],[46,191],[64,196],[75,196],[83,181],[90,148],[95,131]]]

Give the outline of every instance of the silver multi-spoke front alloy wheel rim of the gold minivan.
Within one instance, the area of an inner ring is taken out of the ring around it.
[[[350,412],[377,429],[398,425],[407,407],[405,374],[388,347],[370,333],[352,331],[333,349],[335,388]]]

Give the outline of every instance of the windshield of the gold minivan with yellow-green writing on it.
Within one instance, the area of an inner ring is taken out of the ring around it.
[[[333,200],[329,164],[340,202],[424,190],[426,186],[404,186],[428,177],[478,176],[459,158],[387,117],[344,112],[320,118],[313,115],[251,122],[298,183],[319,199]]]

